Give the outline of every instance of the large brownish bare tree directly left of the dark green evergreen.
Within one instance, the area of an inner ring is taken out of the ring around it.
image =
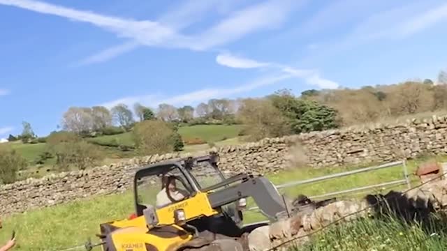
[[[249,140],[281,137],[290,133],[288,119],[268,99],[243,100],[237,112],[237,119],[246,126]]]

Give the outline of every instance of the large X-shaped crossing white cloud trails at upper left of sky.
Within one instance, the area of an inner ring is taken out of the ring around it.
[[[189,50],[209,50],[246,36],[261,29],[273,29],[282,24],[293,7],[305,0],[268,0],[232,13],[203,33],[185,36],[177,31],[183,28],[198,13],[206,12],[215,5],[211,1],[191,1],[182,5],[177,12],[161,17],[162,22],[130,20],[122,17],[100,15],[87,10],[76,10],[64,6],[33,0],[0,0],[0,4],[24,8],[37,13],[57,15],[68,20],[87,22],[115,33],[119,38],[128,38],[130,43],[107,48],[98,54],[83,59],[82,63],[95,63],[112,59],[129,52],[138,45],[176,47]],[[214,1],[213,1],[214,2]],[[227,3],[228,4],[228,3]],[[200,6],[200,8],[198,8]],[[188,18],[186,18],[188,17]],[[268,17],[268,18],[266,18]],[[199,20],[200,18],[198,18]],[[184,20],[185,24],[181,24]]]

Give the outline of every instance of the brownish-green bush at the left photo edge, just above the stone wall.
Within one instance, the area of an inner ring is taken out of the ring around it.
[[[0,183],[13,183],[17,180],[17,172],[27,167],[25,160],[14,150],[0,149]]]

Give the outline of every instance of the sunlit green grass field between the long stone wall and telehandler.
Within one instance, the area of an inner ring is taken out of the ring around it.
[[[425,159],[409,162],[409,172],[413,172],[418,163],[423,160]],[[446,160],[446,158],[438,157],[438,160],[442,161]],[[273,183],[279,184],[343,172],[355,168],[356,167],[334,167],[325,169],[301,168],[279,174],[269,174],[268,177]],[[312,196],[319,195],[323,192],[334,192],[347,188],[382,183],[396,178],[402,178],[401,167],[356,174],[345,178],[337,178],[332,181],[314,183],[313,185],[300,185],[298,187],[280,190],[280,192],[284,192],[288,197],[295,197],[298,194]],[[412,181],[416,182],[416,177],[412,176]],[[405,186],[400,186],[395,187],[394,189],[403,190],[405,188]],[[368,192],[383,193],[387,190],[388,189],[379,189]],[[356,196],[358,197],[362,195]],[[342,199],[342,197],[337,198]],[[252,201],[249,201],[249,204],[249,206],[253,206]],[[17,231],[17,241],[19,243],[16,250],[58,250],[61,248],[68,248],[73,245],[82,244],[88,237],[94,239],[94,234],[98,233],[98,225],[101,222],[122,219],[132,212],[133,202],[130,192],[126,192],[122,195],[96,197],[94,199],[29,211],[24,214],[17,214],[9,218],[3,218],[3,229],[0,231],[0,241],[6,241],[10,236],[10,232],[15,229]],[[263,216],[256,213],[256,211],[247,211],[244,213],[244,217],[245,222],[254,222],[264,219]],[[353,238],[356,237],[357,236],[353,236]],[[376,238],[376,236],[370,234],[369,236],[362,236],[362,238]]]

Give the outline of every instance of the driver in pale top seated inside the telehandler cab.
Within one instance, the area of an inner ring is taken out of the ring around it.
[[[162,208],[168,206],[175,201],[180,201],[188,195],[185,190],[178,189],[175,183],[175,176],[163,176],[161,191],[156,195],[156,207]],[[168,194],[169,193],[169,194]],[[173,201],[172,199],[175,201]]]

